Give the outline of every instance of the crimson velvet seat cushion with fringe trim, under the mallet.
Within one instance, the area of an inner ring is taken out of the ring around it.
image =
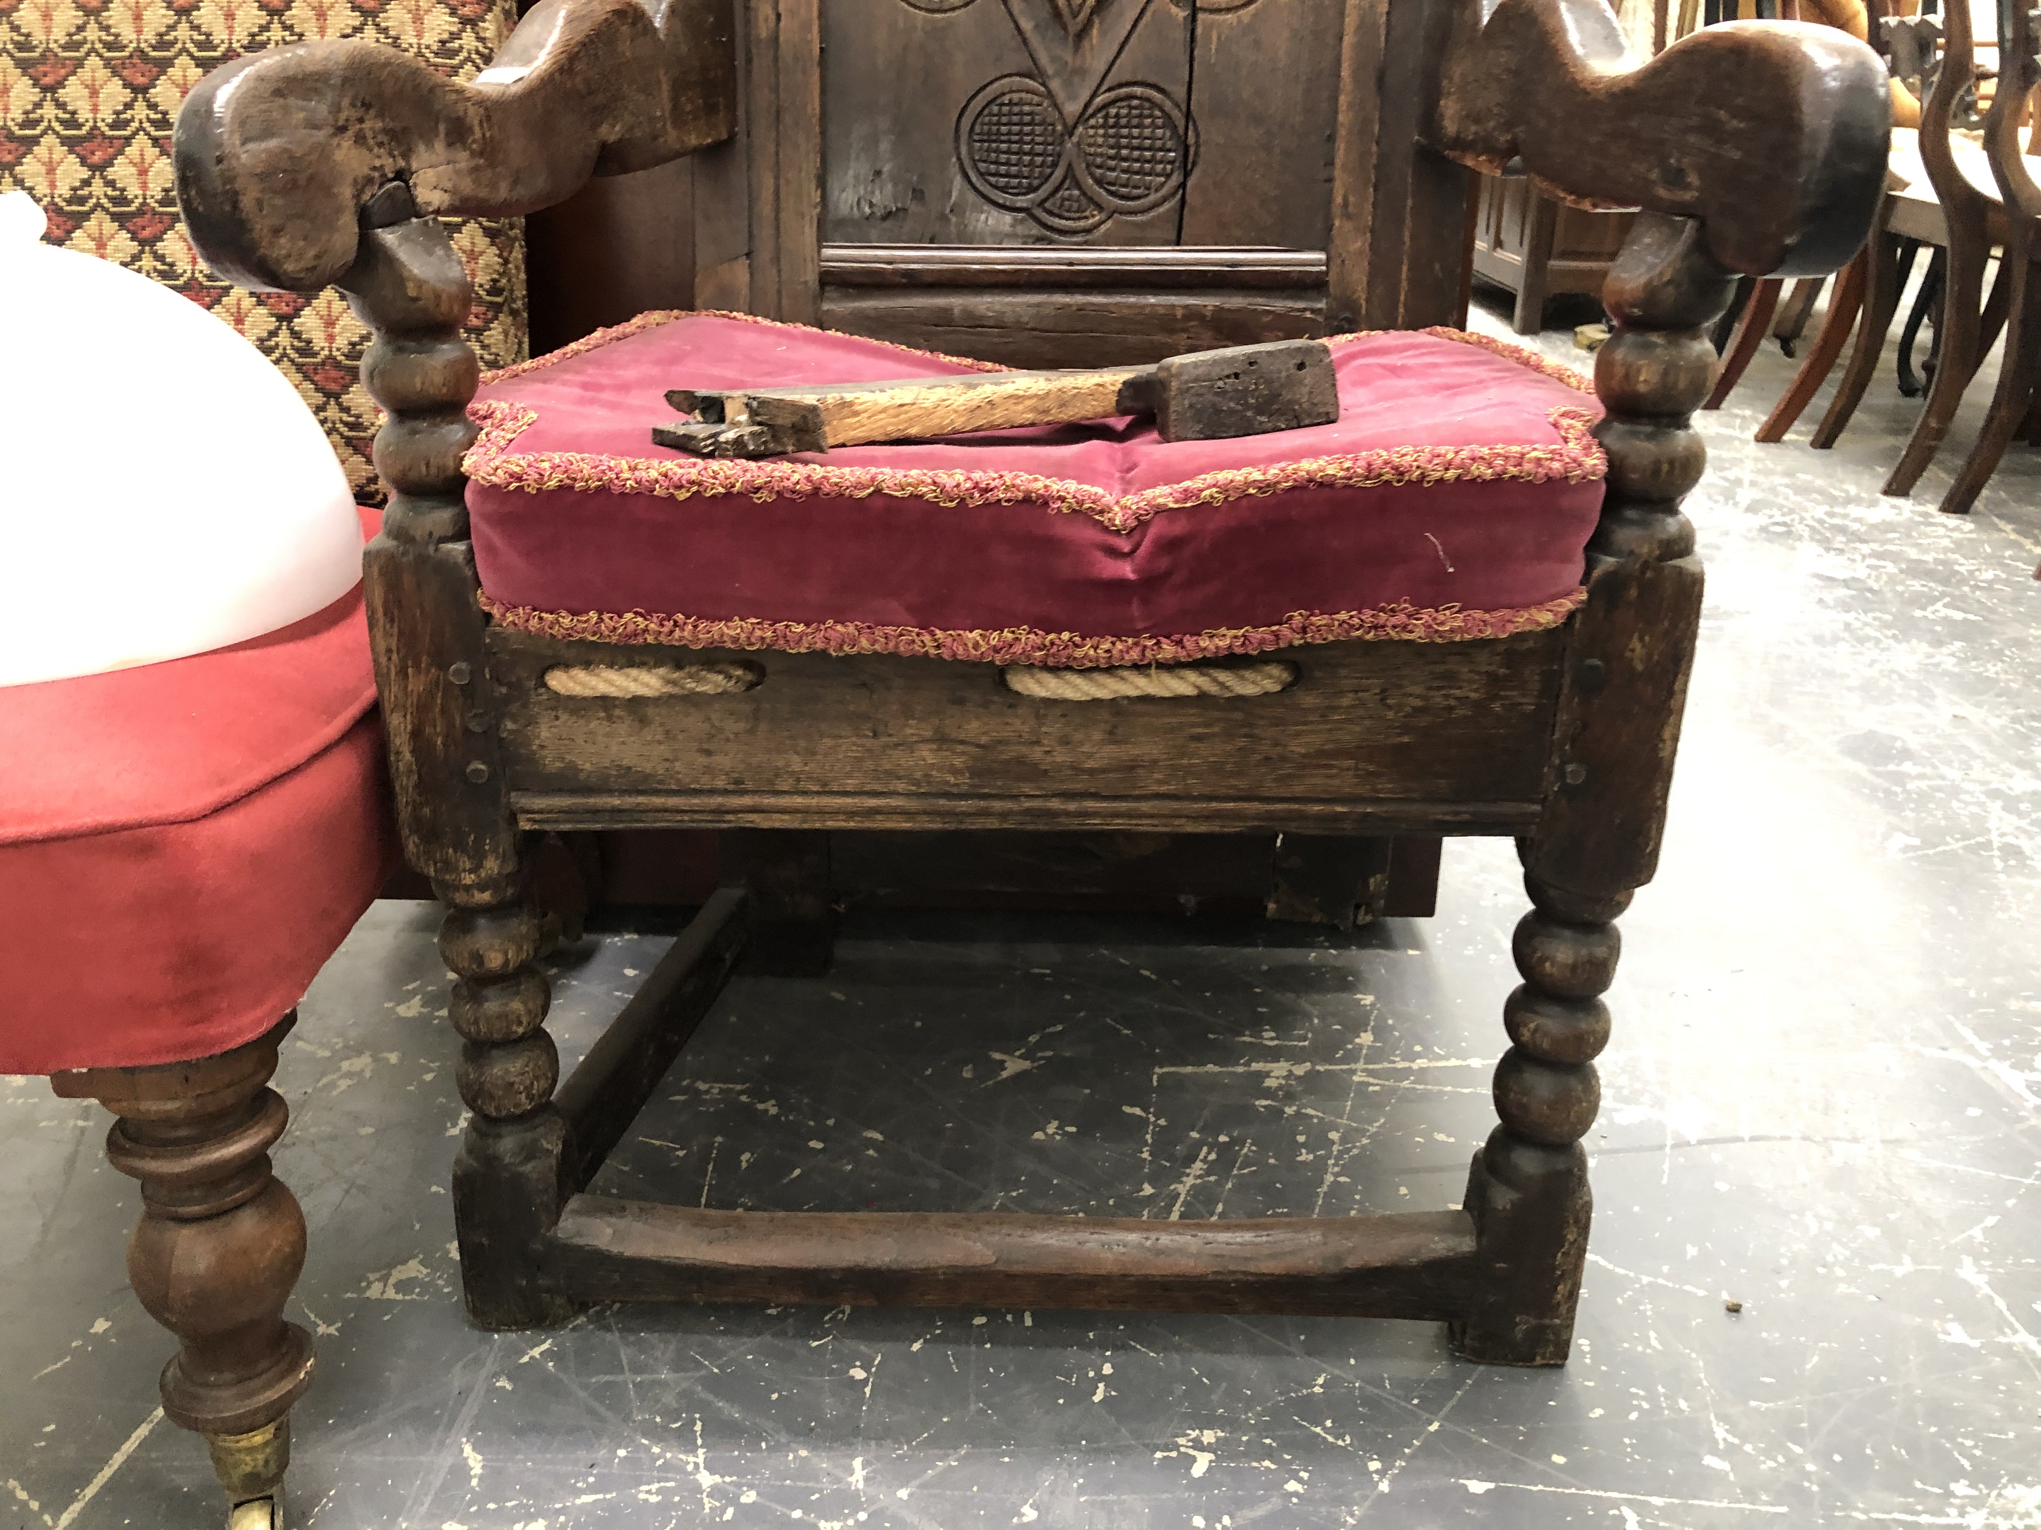
[[[1602,498],[1584,384],[1455,330],[1333,347],[1341,420],[1310,430],[1114,420],[745,463],[653,447],[665,390],[982,363],[643,314],[478,396],[484,598],[559,636],[1055,665],[1563,620]]]

